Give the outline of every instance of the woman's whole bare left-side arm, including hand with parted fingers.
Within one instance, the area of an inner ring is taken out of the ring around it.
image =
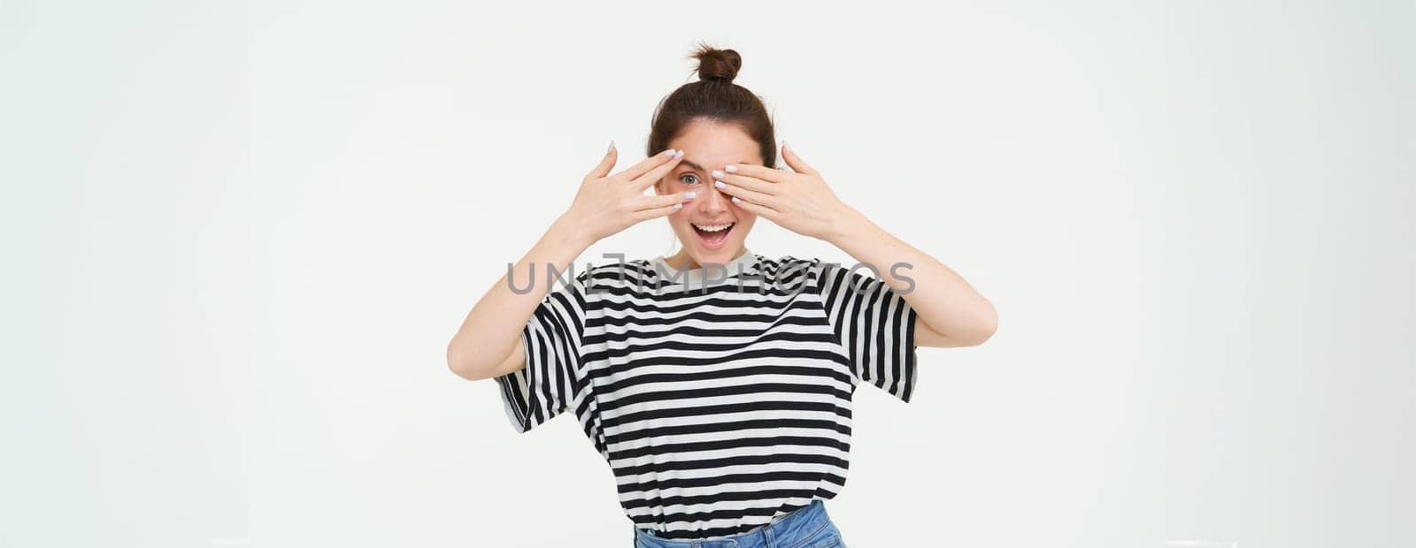
[[[511,280],[534,280],[531,290],[518,295],[503,275],[472,306],[447,343],[447,369],[463,379],[480,380],[524,367],[521,330],[551,291],[549,282],[542,284],[532,275],[545,278],[552,266],[564,273],[595,242],[673,213],[691,198],[684,193],[644,195],[649,186],[678,165],[684,157],[681,151],[667,150],[609,175],[617,157],[610,145],[599,165],[581,181],[571,209],[556,218],[541,240],[511,267]]]

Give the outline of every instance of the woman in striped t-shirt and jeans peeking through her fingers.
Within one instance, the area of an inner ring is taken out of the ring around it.
[[[650,157],[612,175],[610,144],[467,314],[447,363],[496,379],[518,432],[573,410],[615,472],[636,547],[844,545],[823,500],[845,484],[855,386],[909,401],[916,346],[980,345],[997,315],[786,144],[790,171],[772,168],[766,109],[732,83],[741,56],[701,47],[694,58],[700,81],[658,106]],[[671,257],[596,266],[559,288],[538,280],[657,218],[683,243]],[[753,254],[758,218],[858,264]]]

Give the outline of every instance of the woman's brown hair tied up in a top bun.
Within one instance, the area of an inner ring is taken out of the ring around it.
[[[758,141],[762,165],[776,167],[777,141],[762,99],[746,88],[732,83],[742,68],[742,55],[732,49],[715,49],[700,42],[688,55],[698,59],[698,82],[678,86],[658,102],[650,120],[649,155],[668,148],[690,121],[705,117],[718,123],[738,124],[748,137]]]

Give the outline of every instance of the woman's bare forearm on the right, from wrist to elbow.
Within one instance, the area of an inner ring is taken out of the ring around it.
[[[826,240],[857,261],[874,266],[881,281],[899,291],[930,329],[969,343],[981,343],[997,329],[993,304],[959,273],[885,232],[865,215],[851,209],[847,220]],[[905,266],[896,268],[896,264]]]

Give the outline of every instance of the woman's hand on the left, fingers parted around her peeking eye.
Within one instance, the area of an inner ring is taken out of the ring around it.
[[[619,151],[610,145],[605,160],[590,169],[581,181],[581,189],[561,218],[578,233],[599,242],[636,223],[657,219],[683,209],[683,202],[695,198],[694,192],[646,195],[644,189],[663,179],[678,165],[683,151],[673,148],[641,160],[627,169],[607,175],[615,167]],[[607,177],[606,177],[607,175]]]

